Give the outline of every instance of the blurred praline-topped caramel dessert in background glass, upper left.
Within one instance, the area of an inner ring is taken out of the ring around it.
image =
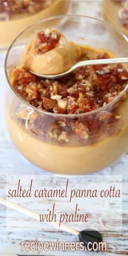
[[[0,48],[8,48],[26,27],[54,15],[66,14],[70,1],[0,0]]]

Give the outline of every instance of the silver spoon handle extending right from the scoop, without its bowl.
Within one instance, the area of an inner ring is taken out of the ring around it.
[[[85,60],[79,61],[73,66],[73,70],[82,66],[89,65],[105,65],[105,64],[116,64],[116,63],[128,63],[128,57],[125,58],[114,58],[114,59],[101,59],[101,60]]]

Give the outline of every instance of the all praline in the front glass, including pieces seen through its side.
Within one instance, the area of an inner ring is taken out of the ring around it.
[[[97,59],[108,57],[100,54]],[[42,79],[28,70],[15,68],[12,86],[29,104],[40,110],[57,114],[79,114],[106,106],[124,90],[128,73],[122,65],[82,67],[65,78]],[[126,93],[121,100],[126,99]],[[86,118],[54,118],[21,106],[17,117],[27,122],[27,129],[59,143],[68,143],[70,136],[81,140],[81,144],[93,144],[101,134],[112,135],[121,115],[116,108],[119,101],[110,106],[109,111],[88,114]],[[53,128],[51,124],[53,125]],[[50,124],[50,129],[49,129]],[[112,129],[113,127],[113,129]],[[114,128],[115,127],[115,128]]]

